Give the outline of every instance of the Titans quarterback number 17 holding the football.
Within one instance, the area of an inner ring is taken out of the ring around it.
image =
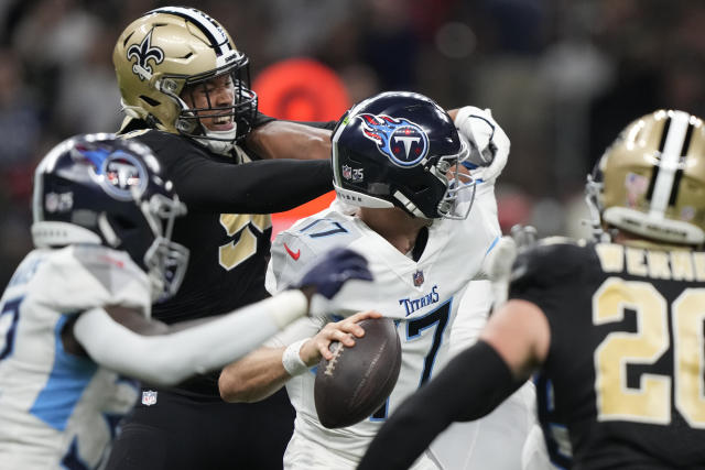
[[[355,468],[388,415],[446,359],[459,299],[468,282],[481,277],[499,238],[494,183],[509,153],[509,139],[489,112],[458,116],[490,132],[481,140],[459,125],[473,139],[466,143],[457,122],[416,94],[384,92],[351,108],[333,135],[334,185],[345,207],[300,220],[274,242],[271,292],[299,278],[327,250],[361,250],[376,284],[345,295],[345,305],[394,318],[402,343],[402,369],[389,400],[368,419],[340,429],[319,423],[308,369],[321,357],[330,359],[332,340],[350,346],[362,334],[352,317],[323,329],[321,323],[296,323],[224,370],[220,392],[228,401],[256,401],[285,384],[296,408],[285,468]],[[463,166],[470,154],[475,162],[491,162],[476,173],[482,183]],[[419,464],[436,468],[430,457]]]

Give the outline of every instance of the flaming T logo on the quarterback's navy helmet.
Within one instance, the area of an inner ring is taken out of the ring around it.
[[[377,149],[395,165],[415,166],[429,154],[429,135],[404,118],[394,119],[380,114],[359,114],[362,133],[377,142]]]

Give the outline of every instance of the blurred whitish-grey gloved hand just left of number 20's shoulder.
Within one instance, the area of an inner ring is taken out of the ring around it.
[[[532,226],[513,226],[511,233],[499,239],[485,260],[486,271],[492,282],[495,307],[507,302],[511,266],[517,254],[536,243],[536,229]]]

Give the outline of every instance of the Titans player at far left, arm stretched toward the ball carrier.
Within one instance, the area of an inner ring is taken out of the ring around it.
[[[137,141],[79,135],[42,160],[36,249],[0,298],[2,468],[98,468],[138,396],[122,375],[169,385],[223,367],[305,316],[312,297],[326,306],[343,283],[370,280],[364,258],[337,252],[301,289],[199,325],[167,326],[151,318],[151,305],[183,280],[188,250],[171,236],[185,214],[156,157]]]

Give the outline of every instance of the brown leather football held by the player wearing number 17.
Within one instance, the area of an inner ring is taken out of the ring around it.
[[[397,384],[401,341],[391,318],[367,318],[362,338],[346,348],[330,343],[329,361],[318,363],[314,400],[318,420],[327,428],[350,426],[382,406]]]

